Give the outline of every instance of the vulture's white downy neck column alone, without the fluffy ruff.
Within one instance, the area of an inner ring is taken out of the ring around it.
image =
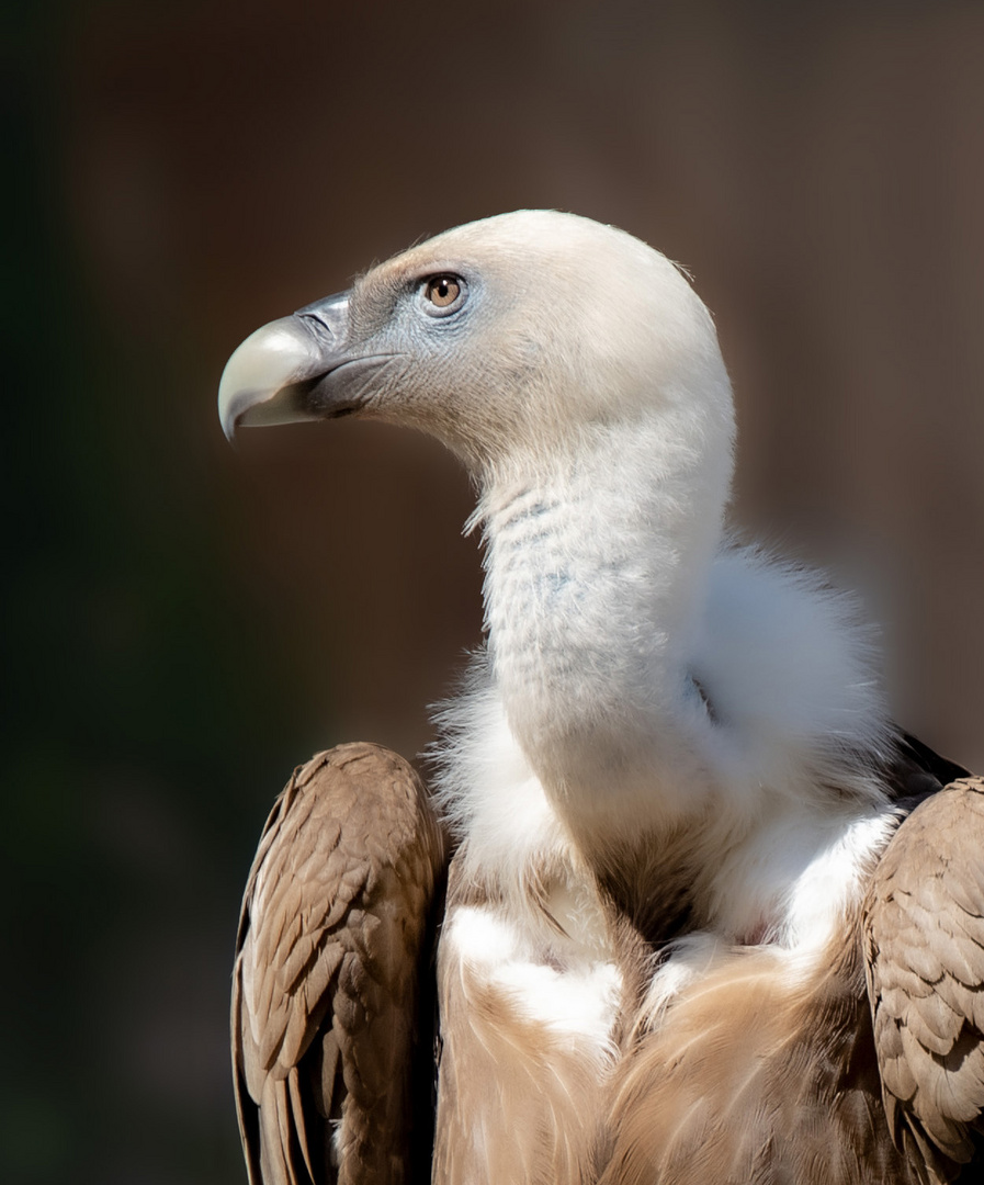
[[[690,664],[731,462],[686,444],[665,416],[606,425],[480,506],[493,675],[566,812],[617,822],[639,779],[661,811],[712,779]]]

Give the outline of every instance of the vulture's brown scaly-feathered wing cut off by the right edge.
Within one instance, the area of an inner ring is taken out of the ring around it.
[[[984,1108],[984,779],[926,799],[875,871],[868,993],[893,1138],[951,1180]]]

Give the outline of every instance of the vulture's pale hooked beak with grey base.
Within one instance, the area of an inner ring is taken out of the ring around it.
[[[219,383],[219,418],[230,441],[243,425],[330,419],[365,403],[368,384],[352,380],[384,358],[350,351],[348,301],[347,292],[326,296],[264,325],[236,350]]]

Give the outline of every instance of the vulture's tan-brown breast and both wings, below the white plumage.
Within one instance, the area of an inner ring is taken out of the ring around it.
[[[639,1011],[651,947],[598,890],[623,972],[600,1053],[523,1016],[508,985],[449,947],[432,1180],[954,1179],[984,1107],[982,837],[984,781],[952,783],[899,827],[863,907],[805,974],[790,976],[773,947],[721,944],[655,1023]],[[427,1179],[411,1125],[430,1088],[410,1069],[427,1029],[418,982],[442,859],[416,775],[385,750],[321,755],[278,800],[236,968],[251,1180]],[[502,909],[464,866],[452,865],[446,916]],[[544,886],[535,898],[548,933]]]

